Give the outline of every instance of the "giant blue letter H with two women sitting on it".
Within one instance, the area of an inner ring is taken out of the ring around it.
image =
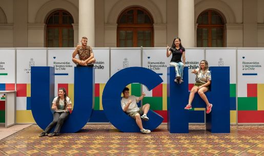
[[[230,132],[230,90],[229,67],[210,67],[212,81],[211,91],[207,92],[207,98],[213,104],[212,112],[206,115],[206,129],[214,133]],[[174,82],[174,67],[168,67],[167,94],[168,94],[168,130],[171,133],[189,132],[190,110],[184,107],[188,103],[188,69],[184,69],[182,84]],[[206,107],[205,102],[195,94],[192,107]]]

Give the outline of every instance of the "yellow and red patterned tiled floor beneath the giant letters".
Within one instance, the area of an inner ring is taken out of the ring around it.
[[[42,137],[32,125],[0,141],[0,155],[264,155],[264,125],[231,126],[210,133],[191,125],[172,134],[160,125],[151,135],[119,132],[112,125],[86,125],[80,132]]]

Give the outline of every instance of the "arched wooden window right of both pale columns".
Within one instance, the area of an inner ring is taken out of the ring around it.
[[[225,47],[224,20],[219,13],[204,11],[198,16],[197,24],[197,47]]]

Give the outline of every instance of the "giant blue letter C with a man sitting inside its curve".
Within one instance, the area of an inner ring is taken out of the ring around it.
[[[139,132],[135,120],[124,113],[121,108],[120,95],[124,87],[130,83],[144,84],[149,90],[163,82],[152,70],[141,67],[130,67],[115,73],[107,82],[103,92],[104,113],[108,120],[120,131]],[[162,104],[162,103],[160,103]],[[151,103],[150,103],[151,105]],[[149,121],[143,121],[144,128],[153,130],[163,121],[163,117],[152,110]]]

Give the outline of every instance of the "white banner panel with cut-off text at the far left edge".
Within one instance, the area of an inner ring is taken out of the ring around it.
[[[15,50],[0,49],[0,83],[15,83]]]

